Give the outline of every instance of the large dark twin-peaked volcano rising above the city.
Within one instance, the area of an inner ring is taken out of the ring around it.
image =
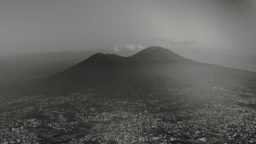
[[[168,49],[151,46],[135,55],[122,57],[96,53],[86,60],[40,80],[33,89],[69,93],[97,88],[149,90],[190,83],[219,83],[255,80],[256,73],[186,59]],[[31,87],[30,87],[31,89]]]

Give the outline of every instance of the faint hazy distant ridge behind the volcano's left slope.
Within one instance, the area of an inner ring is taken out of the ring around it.
[[[93,50],[61,51],[0,57],[0,89],[4,85],[51,76],[95,53]]]

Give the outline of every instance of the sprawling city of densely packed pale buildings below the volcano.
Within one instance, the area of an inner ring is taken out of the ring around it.
[[[256,83],[1,99],[1,144],[253,143]],[[118,98],[120,97],[120,98]]]

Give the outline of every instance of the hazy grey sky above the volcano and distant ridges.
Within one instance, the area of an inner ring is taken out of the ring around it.
[[[0,0],[0,53],[256,54],[256,0]]]

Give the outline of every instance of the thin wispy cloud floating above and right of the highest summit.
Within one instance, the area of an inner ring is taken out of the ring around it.
[[[193,40],[181,40],[180,38],[154,38],[152,41],[160,41],[160,42],[166,42],[171,43],[175,45],[185,45],[185,44],[193,44],[196,43],[196,41]]]

